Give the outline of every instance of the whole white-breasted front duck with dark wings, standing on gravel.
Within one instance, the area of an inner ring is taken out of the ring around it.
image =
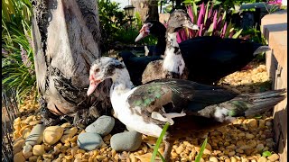
[[[163,140],[169,161],[175,139],[215,129],[238,116],[266,112],[284,100],[285,89],[255,94],[236,94],[222,87],[190,80],[160,79],[134,86],[123,62],[98,58],[90,67],[88,95],[99,83],[111,78],[110,100],[117,119],[148,136],[159,137],[170,123]]]

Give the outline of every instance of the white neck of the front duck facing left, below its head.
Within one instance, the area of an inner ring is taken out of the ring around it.
[[[134,88],[126,68],[116,69],[116,75],[112,77],[112,82],[113,84],[111,85],[110,89],[110,97],[113,94],[126,94],[128,91]]]

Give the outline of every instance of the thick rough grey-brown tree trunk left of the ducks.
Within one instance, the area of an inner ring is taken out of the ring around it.
[[[100,57],[97,1],[34,0],[33,13],[34,64],[44,124],[56,124],[63,117],[87,124],[110,112],[110,80],[98,86],[95,96],[86,93],[90,65]]]

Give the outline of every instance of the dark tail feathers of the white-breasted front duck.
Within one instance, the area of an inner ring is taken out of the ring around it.
[[[256,94],[241,94],[237,98],[231,100],[230,103],[235,104],[238,111],[245,115],[253,116],[272,109],[275,104],[280,103],[286,97],[286,89],[278,89]],[[240,108],[239,105],[246,105]]]

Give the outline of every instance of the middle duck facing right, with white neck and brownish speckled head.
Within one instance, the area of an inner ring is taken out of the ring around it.
[[[177,31],[187,27],[198,30],[199,27],[191,22],[189,14],[184,10],[174,10],[168,20],[165,34],[166,47],[164,58],[150,62],[144,69],[142,83],[161,78],[188,78],[188,69],[185,67],[181,49],[177,42]]]

